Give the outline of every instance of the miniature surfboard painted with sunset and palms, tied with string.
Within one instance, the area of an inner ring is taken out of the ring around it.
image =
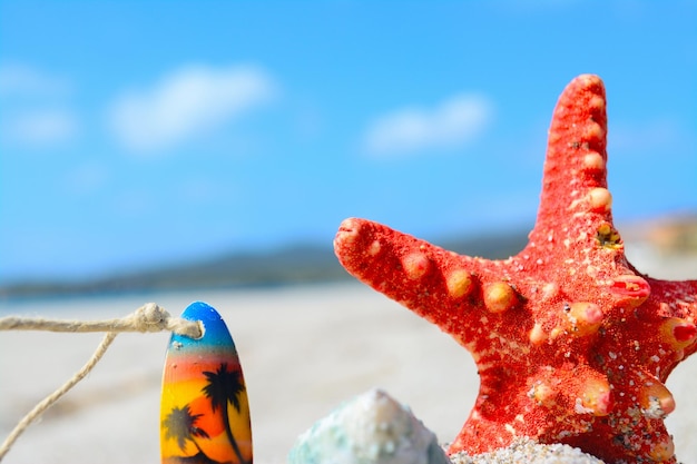
[[[163,464],[252,463],[249,403],[233,337],[205,303],[181,314],[203,325],[203,337],[173,334],[160,403]]]

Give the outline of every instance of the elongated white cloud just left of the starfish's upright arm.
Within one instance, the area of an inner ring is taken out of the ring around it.
[[[405,108],[377,118],[365,147],[373,155],[400,155],[464,145],[481,134],[492,109],[481,96],[457,95],[434,109]]]

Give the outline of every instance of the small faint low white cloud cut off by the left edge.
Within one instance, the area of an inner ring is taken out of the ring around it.
[[[47,146],[72,139],[78,132],[76,116],[65,109],[14,112],[0,120],[3,140],[22,146]]]

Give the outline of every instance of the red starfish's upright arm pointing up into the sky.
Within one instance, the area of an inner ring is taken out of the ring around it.
[[[554,108],[538,217],[519,255],[539,256],[540,275],[603,313],[635,308],[651,292],[612,224],[606,147],[605,86],[598,76],[579,76]]]

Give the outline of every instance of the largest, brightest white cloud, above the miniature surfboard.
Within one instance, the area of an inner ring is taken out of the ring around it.
[[[149,90],[120,96],[110,109],[109,122],[130,149],[157,151],[238,117],[273,95],[272,79],[258,68],[190,66]]]

